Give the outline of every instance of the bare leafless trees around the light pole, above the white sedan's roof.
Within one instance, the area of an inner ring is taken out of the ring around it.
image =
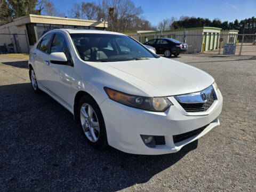
[[[109,7],[114,8],[114,13],[109,15]],[[150,22],[141,17],[141,7],[135,6],[132,0],[102,0],[98,4],[82,2],[74,4],[69,11],[73,18],[108,21],[109,29],[114,31],[151,30],[155,29]]]

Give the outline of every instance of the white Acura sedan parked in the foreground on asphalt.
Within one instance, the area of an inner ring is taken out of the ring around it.
[[[30,50],[28,67],[34,91],[69,110],[95,148],[174,153],[219,125],[212,76],[123,34],[51,30]]]

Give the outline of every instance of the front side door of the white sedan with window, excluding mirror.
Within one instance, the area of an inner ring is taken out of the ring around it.
[[[63,52],[67,57],[67,62],[53,63],[49,60],[45,73],[48,74],[47,87],[49,90],[65,101],[68,105],[73,102],[70,93],[73,90],[73,60],[71,59],[69,47],[64,35],[55,33],[50,48],[50,54],[54,52]],[[71,106],[70,106],[71,107]]]

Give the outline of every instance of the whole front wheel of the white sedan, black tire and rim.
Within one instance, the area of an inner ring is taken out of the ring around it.
[[[94,148],[102,149],[108,146],[105,122],[101,110],[89,95],[79,101],[79,117],[85,140]]]

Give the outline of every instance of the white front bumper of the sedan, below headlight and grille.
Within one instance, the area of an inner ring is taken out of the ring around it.
[[[186,114],[179,104],[165,112],[153,112],[124,106],[107,99],[100,108],[105,120],[108,143],[110,146],[131,154],[160,155],[175,153],[183,146],[202,137],[215,126],[218,126],[222,109],[222,95],[217,90],[218,100],[206,113]],[[172,101],[174,98],[169,97]],[[209,125],[208,125],[209,124]],[[208,125],[201,133],[194,137],[174,143],[173,135],[193,131]],[[147,147],[140,135],[164,135],[165,145]]]

